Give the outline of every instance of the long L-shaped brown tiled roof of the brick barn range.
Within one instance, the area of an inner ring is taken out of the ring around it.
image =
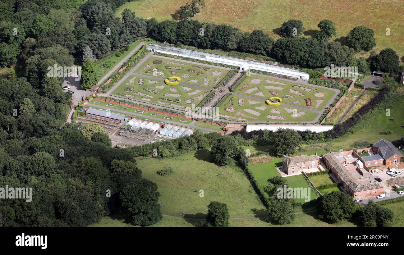
[[[383,186],[379,182],[368,183],[368,184],[358,184],[355,178],[349,173],[345,167],[339,163],[337,158],[333,155],[333,153],[326,153],[323,156],[330,164],[335,168],[337,171],[337,175],[339,178],[353,190],[353,192],[364,191],[364,190],[371,190],[376,188],[383,188]]]

